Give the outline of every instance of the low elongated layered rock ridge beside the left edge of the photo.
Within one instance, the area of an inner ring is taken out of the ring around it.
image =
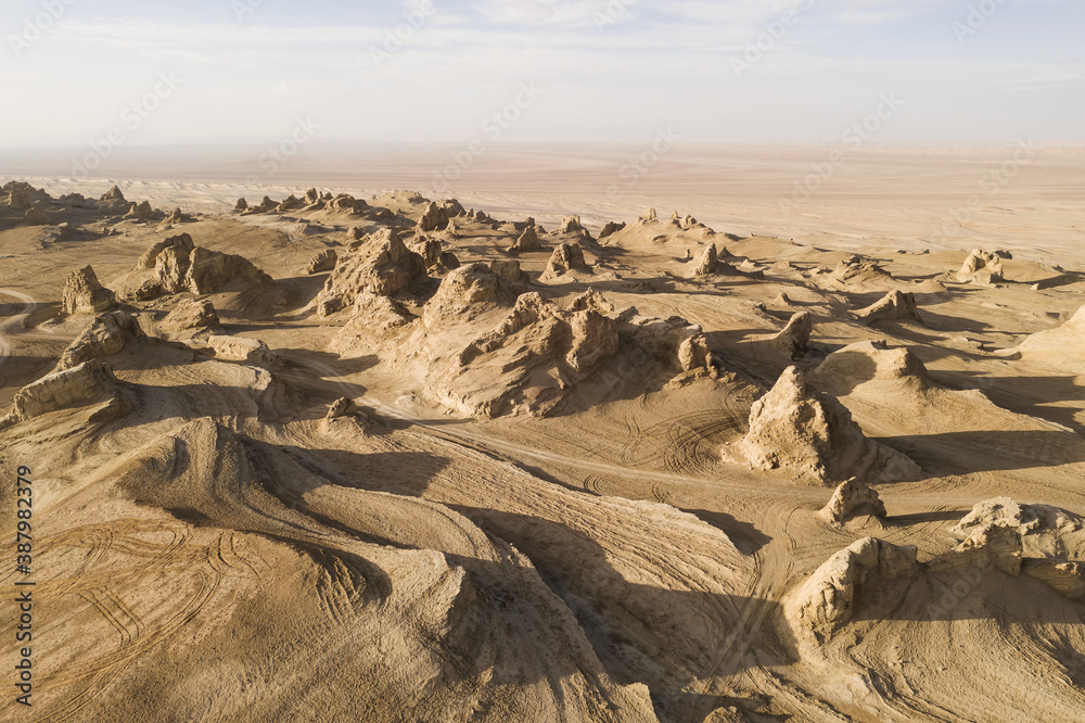
[[[113,370],[98,359],[87,362],[43,377],[16,392],[11,413],[0,419],[0,431],[74,404],[106,399],[112,401],[108,409],[113,414],[130,408]]]

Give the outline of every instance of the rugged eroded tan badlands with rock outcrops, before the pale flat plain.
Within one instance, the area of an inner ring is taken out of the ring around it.
[[[12,182],[0,294],[4,720],[1085,719],[1067,259]]]

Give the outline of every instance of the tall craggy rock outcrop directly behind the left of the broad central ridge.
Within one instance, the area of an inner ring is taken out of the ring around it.
[[[425,262],[404,245],[392,229],[350,244],[317,296],[320,316],[330,316],[354,304],[359,294],[395,296],[426,277]]]

